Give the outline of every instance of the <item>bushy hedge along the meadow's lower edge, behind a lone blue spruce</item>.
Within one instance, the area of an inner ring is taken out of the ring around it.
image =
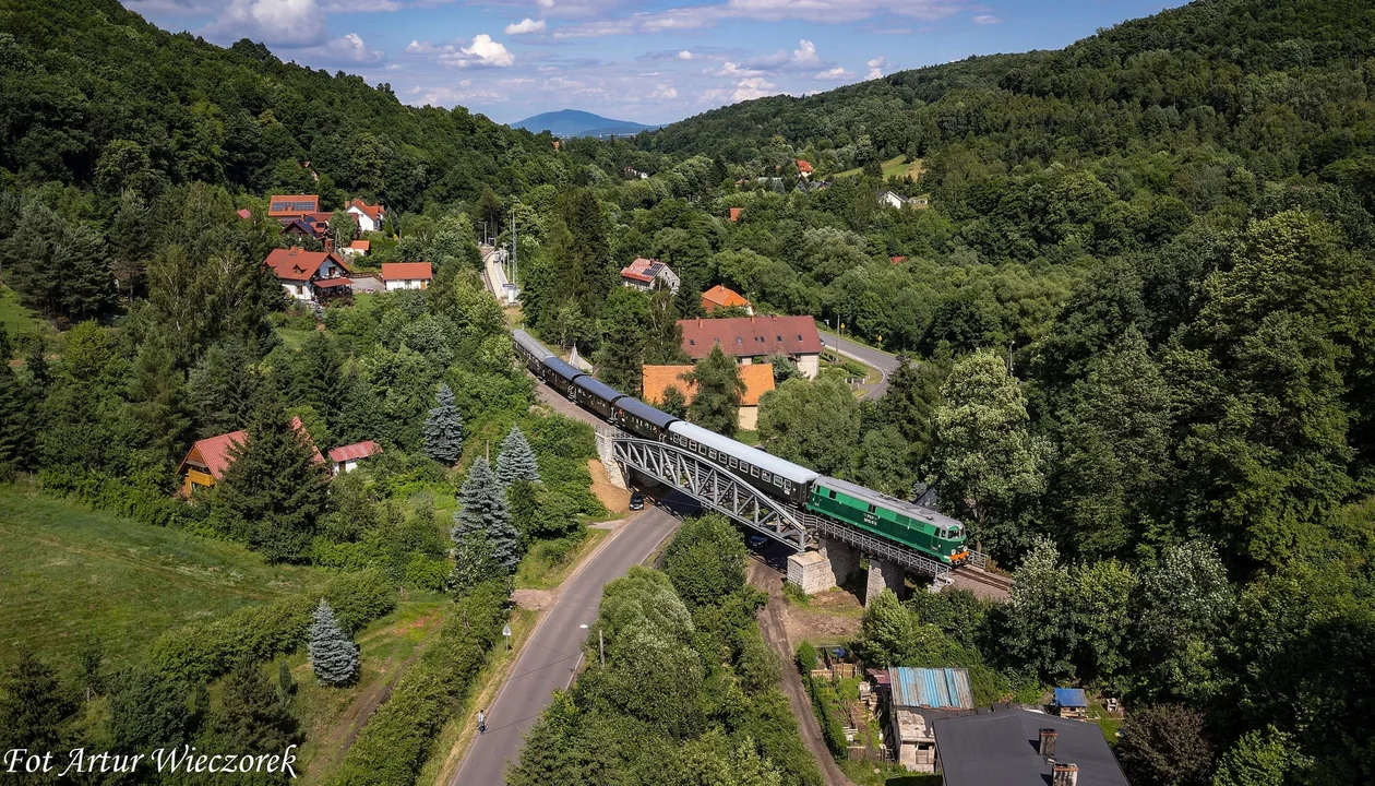
[[[396,608],[396,591],[381,571],[345,573],[323,589],[169,630],[153,643],[148,665],[172,677],[199,681],[228,672],[239,658],[265,661],[294,652],[305,646],[320,597],[330,602],[349,635]]]

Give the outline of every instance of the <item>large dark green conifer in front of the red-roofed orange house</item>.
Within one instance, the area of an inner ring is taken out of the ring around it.
[[[216,518],[230,535],[272,562],[298,560],[324,511],[324,465],[271,392],[260,396],[246,445],[216,486]]]

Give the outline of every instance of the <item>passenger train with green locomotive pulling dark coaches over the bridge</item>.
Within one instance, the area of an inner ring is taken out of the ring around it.
[[[524,330],[513,330],[512,337],[532,374],[623,431],[694,453],[786,505],[865,530],[942,564],[969,559],[964,524],[949,516],[693,425],[575,369]]]

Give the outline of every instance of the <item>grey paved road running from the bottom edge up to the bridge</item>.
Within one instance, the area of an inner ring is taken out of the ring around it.
[[[544,615],[510,677],[487,709],[487,734],[477,736],[450,778],[450,786],[499,786],[507,761],[516,761],[525,731],[578,673],[587,640],[587,625],[597,621],[602,586],[620,578],[632,564],[645,562],[674,531],[678,519],[660,508],[627,522],[601,546],[591,562],[564,585]],[[556,785],[550,785],[556,786]]]

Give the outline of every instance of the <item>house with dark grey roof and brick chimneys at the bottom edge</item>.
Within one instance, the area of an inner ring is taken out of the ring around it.
[[[932,725],[945,786],[1128,786],[1093,723],[997,705]]]

